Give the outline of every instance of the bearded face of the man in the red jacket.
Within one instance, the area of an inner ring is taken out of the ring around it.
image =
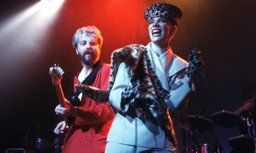
[[[83,33],[79,37],[76,54],[85,65],[94,65],[100,58],[100,44],[95,37]]]

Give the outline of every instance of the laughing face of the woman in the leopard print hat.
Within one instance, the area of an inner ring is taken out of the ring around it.
[[[168,42],[176,33],[176,27],[166,18],[155,17],[149,21],[149,36],[154,43]]]

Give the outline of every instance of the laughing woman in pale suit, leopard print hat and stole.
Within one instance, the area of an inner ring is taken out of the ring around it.
[[[180,9],[171,4],[149,6],[144,17],[149,22],[152,42],[112,54],[112,60],[121,59],[109,95],[118,113],[107,137],[106,153],[177,152],[168,110],[183,108],[194,90],[195,64],[201,64],[199,52],[192,51],[188,64],[169,46],[181,16]],[[121,58],[115,58],[116,53]]]

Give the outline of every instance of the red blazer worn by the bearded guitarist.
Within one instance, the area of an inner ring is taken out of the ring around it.
[[[102,66],[91,86],[107,90],[109,71],[110,65]],[[77,76],[74,84],[80,84]],[[76,121],[66,135],[63,153],[104,153],[113,118],[109,102],[99,103],[83,95],[76,109]]]

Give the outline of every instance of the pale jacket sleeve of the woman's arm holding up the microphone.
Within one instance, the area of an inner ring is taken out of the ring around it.
[[[185,71],[174,74],[168,80],[170,91],[164,101],[171,111],[178,111],[187,104],[187,98],[195,90],[194,83],[187,77]]]

